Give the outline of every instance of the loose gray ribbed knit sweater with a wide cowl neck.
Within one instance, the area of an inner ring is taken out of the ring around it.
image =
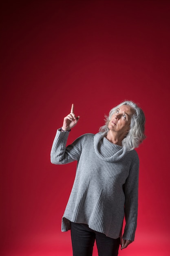
[[[139,158],[111,143],[104,133],[87,133],[66,147],[69,132],[57,130],[51,149],[53,164],[77,161],[75,181],[62,218],[62,231],[71,222],[87,224],[111,238],[134,240],[137,226]]]

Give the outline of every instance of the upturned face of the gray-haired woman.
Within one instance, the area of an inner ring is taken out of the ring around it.
[[[123,105],[120,108],[117,108],[109,121],[108,128],[113,132],[117,132],[119,135],[125,136],[129,131],[130,121],[133,114],[133,108],[128,105]]]

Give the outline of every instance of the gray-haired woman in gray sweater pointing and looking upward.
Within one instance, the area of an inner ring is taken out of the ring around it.
[[[134,148],[145,139],[144,112],[124,101],[110,110],[100,132],[84,134],[66,147],[78,120],[72,104],[51,149],[53,164],[77,161],[62,231],[71,229],[73,256],[91,256],[95,240],[99,256],[117,256],[119,244],[124,249],[135,237],[139,158]]]

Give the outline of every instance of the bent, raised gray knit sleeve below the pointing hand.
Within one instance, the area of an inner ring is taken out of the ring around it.
[[[66,147],[69,132],[61,132],[57,130],[53,146],[51,148],[51,163],[52,164],[68,164],[75,160],[78,161],[81,152],[82,144],[85,135],[77,138],[71,145]]]

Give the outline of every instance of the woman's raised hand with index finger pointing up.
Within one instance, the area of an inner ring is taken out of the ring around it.
[[[68,131],[73,128],[77,122],[79,121],[79,116],[76,117],[74,114],[74,104],[71,106],[71,113],[68,114],[66,117],[64,117],[63,125],[62,125],[62,130]]]

